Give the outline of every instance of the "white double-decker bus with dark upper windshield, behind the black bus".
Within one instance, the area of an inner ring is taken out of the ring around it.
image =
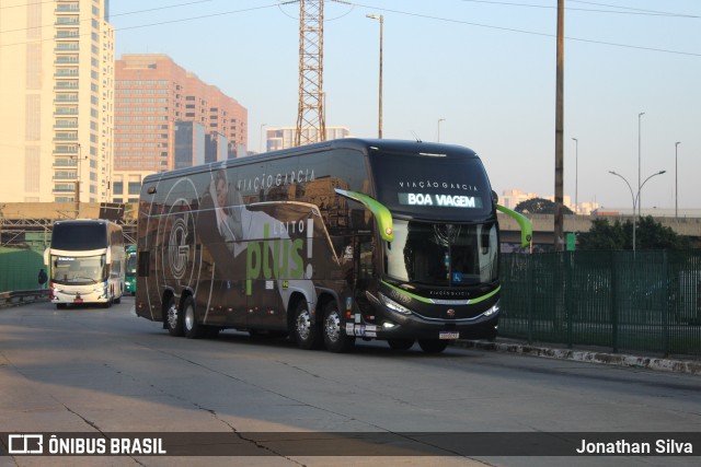
[[[125,249],[122,226],[107,220],[56,221],[44,252],[50,301],[119,303],[124,293]]]

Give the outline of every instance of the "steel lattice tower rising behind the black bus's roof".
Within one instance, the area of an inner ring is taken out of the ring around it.
[[[295,145],[326,139],[323,109],[324,2],[299,1],[299,105]]]

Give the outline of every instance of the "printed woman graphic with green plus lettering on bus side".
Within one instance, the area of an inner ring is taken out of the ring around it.
[[[311,277],[314,219],[319,211],[299,202],[258,202],[244,205],[239,190],[230,183],[226,165],[210,171],[210,183],[200,205],[198,233],[209,249],[216,277],[235,280],[244,277],[245,291],[274,282],[280,296],[287,299],[294,290],[303,291],[309,302],[315,302]],[[242,255],[245,253],[244,255]]]

